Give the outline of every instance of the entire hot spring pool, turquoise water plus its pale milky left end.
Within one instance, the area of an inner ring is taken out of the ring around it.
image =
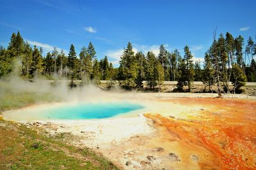
[[[129,102],[53,104],[26,107],[5,114],[6,120],[92,120],[111,118],[144,107]]]

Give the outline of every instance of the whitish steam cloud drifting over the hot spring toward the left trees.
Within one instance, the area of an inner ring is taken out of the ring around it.
[[[141,96],[138,93],[135,93],[135,91],[124,91],[120,86],[113,86],[109,91],[105,91],[99,88],[97,84],[91,82],[87,84],[78,83],[76,88],[70,88],[70,81],[60,79],[58,75],[54,76],[54,80],[51,81],[45,77],[38,76],[35,76],[32,80],[25,80],[20,78],[19,71],[20,62],[17,61],[13,72],[8,77],[0,79],[0,102],[2,100],[5,103],[12,103],[13,97],[15,97],[15,100],[18,100],[18,104],[19,100],[25,97],[28,99],[28,102],[25,100],[25,105],[42,104],[45,102],[120,102],[120,100],[131,99],[141,101]],[[8,98],[10,96],[12,98]],[[23,105],[18,107],[25,105],[23,102]],[[12,106],[13,104],[10,104],[8,108],[12,109]]]

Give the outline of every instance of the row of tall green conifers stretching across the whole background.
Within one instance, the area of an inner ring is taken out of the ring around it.
[[[244,47],[245,46],[245,47]],[[63,50],[56,47],[52,52],[43,56],[43,49],[31,47],[24,42],[19,31],[13,33],[8,47],[0,47],[0,77],[8,75],[20,63],[20,76],[32,79],[35,76],[65,77],[72,82],[76,79],[83,83],[99,82],[99,80],[120,81],[124,88],[141,88],[143,81],[147,81],[148,88],[160,88],[163,81],[177,81],[177,89],[184,91],[188,86],[191,90],[193,81],[202,81],[211,90],[213,84],[218,85],[218,92],[239,91],[244,82],[255,82],[256,43],[252,37],[244,45],[244,38],[239,35],[234,38],[230,33],[221,34],[214,40],[205,52],[204,62],[193,61],[193,55],[186,45],[184,56],[179,50],[172,52],[160,45],[159,54],[152,51],[134,53],[129,42],[120,59],[120,66],[114,68],[105,56],[97,59],[92,42],[83,47],[79,54],[74,45],[66,56]],[[247,60],[247,61],[246,61]],[[233,89],[229,89],[228,82],[232,82]]]

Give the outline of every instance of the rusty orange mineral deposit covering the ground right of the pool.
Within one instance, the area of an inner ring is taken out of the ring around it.
[[[256,169],[256,101],[175,98],[164,102],[204,106],[197,111],[200,116],[189,116],[182,120],[161,114],[145,114],[157,125],[166,127],[171,132],[170,136],[178,136],[177,141],[186,144],[186,149],[188,146],[204,147],[205,151],[214,155],[209,159],[220,169]],[[192,158],[197,159],[193,155]],[[205,158],[199,160],[198,164],[202,169],[211,169]]]

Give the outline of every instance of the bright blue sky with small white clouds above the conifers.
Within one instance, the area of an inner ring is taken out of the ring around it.
[[[118,66],[127,42],[134,50],[158,53],[164,44],[183,54],[189,45],[195,59],[204,58],[212,32],[232,33],[245,40],[256,35],[256,1],[87,1],[1,0],[0,44],[6,47],[20,31],[44,52],[52,47],[68,53],[71,43],[79,54],[92,42],[97,58],[108,56]]]

